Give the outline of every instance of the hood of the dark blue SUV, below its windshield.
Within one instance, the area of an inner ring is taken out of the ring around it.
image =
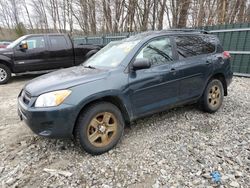
[[[37,97],[42,93],[67,89],[79,84],[103,79],[107,76],[108,70],[90,69],[83,66],[76,66],[39,76],[28,82],[24,89],[31,96]]]

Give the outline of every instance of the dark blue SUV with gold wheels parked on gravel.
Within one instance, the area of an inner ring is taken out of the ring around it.
[[[231,80],[230,55],[216,36],[143,33],[108,44],[82,66],[30,81],[18,112],[36,134],[73,135],[85,151],[101,154],[143,116],[196,102],[216,112]]]

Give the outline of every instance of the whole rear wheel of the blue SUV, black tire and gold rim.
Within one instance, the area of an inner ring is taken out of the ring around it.
[[[209,81],[203,96],[201,105],[205,112],[214,113],[222,105],[224,98],[224,89],[220,80],[212,79]]]

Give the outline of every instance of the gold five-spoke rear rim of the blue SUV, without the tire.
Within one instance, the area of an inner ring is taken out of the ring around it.
[[[218,105],[220,105],[220,100],[221,100],[220,87],[218,85],[214,85],[209,90],[208,103],[213,108],[216,108]]]

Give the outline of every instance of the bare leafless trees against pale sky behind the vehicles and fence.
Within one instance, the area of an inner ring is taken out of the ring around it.
[[[250,22],[249,0],[0,0],[0,40]]]

